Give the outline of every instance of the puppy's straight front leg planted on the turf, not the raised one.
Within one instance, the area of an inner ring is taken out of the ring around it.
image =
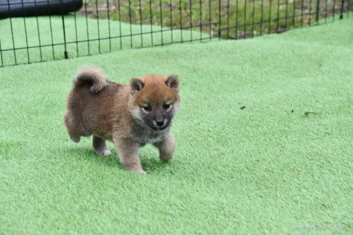
[[[116,150],[119,154],[120,162],[125,169],[131,172],[147,174],[141,166],[141,161],[138,156],[139,145],[128,139],[116,138],[113,140]]]

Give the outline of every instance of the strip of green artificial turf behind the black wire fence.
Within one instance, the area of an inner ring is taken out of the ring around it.
[[[201,39],[202,42],[216,40],[206,33],[194,30],[130,25],[115,20],[86,19],[83,16],[65,16],[64,25],[66,50],[70,58],[120,49],[188,42],[191,39],[193,43],[200,42]],[[63,59],[65,40],[61,16],[0,20],[0,48],[5,50],[0,55],[0,65]]]

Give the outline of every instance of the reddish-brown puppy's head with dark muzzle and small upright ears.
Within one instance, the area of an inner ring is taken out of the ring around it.
[[[130,79],[130,109],[140,123],[154,130],[170,125],[180,106],[177,75]]]

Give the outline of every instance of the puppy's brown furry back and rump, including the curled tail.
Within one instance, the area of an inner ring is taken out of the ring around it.
[[[86,67],[79,71],[68,95],[66,122],[80,136],[112,136],[116,102],[124,102],[128,94],[124,85],[109,81],[98,69]]]

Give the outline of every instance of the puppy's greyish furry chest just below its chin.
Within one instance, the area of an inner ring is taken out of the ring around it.
[[[130,138],[141,145],[160,142],[167,134],[167,130],[153,131],[145,128],[132,128],[129,132]]]

